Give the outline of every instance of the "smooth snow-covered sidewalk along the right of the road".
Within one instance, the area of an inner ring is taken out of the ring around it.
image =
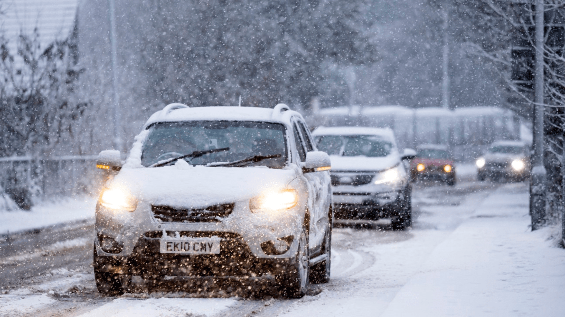
[[[381,316],[565,316],[565,250],[529,221],[524,185],[499,187]]]

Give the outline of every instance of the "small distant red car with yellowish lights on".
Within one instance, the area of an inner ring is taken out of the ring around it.
[[[416,157],[410,162],[412,180],[441,180],[455,185],[455,165],[447,147],[438,144],[422,144],[416,148]]]

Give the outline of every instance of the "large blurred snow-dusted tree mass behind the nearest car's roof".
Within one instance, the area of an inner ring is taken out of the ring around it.
[[[237,105],[241,96],[242,105],[273,107],[284,102],[307,108],[312,98],[328,95],[327,81],[341,85],[341,78],[327,68],[375,59],[368,22],[362,19],[367,2],[116,2],[124,139],[137,134],[150,113],[171,102]],[[84,87],[96,97],[89,99],[95,108],[99,105],[97,121],[111,123],[108,96],[114,87],[109,80],[107,1],[85,2],[79,13],[80,63],[87,69]],[[108,137],[101,143],[108,143]]]

